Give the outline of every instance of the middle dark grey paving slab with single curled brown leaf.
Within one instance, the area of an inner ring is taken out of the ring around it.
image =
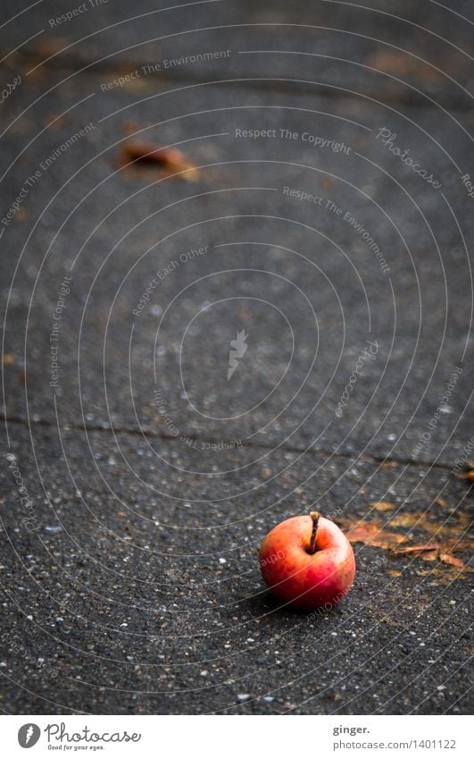
[[[472,199],[456,114],[390,113],[436,188],[380,142],[377,105],[344,98],[328,113],[317,97],[250,85],[101,95],[99,81],[61,84],[24,114],[43,85],[6,104],[21,114],[5,135],[6,205],[28,190],[2,240],[6,416],[400,460],[462,454]],[[186,181],[119,166],[124,140],[139,139],[178,143],[201,168]]]

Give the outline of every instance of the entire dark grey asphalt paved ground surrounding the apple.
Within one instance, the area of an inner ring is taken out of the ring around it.
[[[176,5],[0,11],[0,709],[469,713],[474,8]]]

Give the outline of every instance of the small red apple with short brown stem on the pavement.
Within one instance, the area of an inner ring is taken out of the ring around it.
[[[355,575],[352,545],[318,511],[273,527],[263,539],[259,562],[263,579],[279,601],[304,611],[335,606]]]

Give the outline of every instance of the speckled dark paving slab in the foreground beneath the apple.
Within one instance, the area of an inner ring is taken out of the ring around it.
[[[267,530],[315,496],[333,519],[378,521],[411,543],[428,528],[431,540],[462,537],[471,497],[445,468],[280,452],[244,474],[235,454],[233,472],[203,485],[176,442],[160,459],[136,435],[10,434],[5,711],[468,713],[465,572],[354,544],[345,602],[295,614],[272,600],[256,561]],[[212,468],[218,456],[201,460]],[[369,505],[381,498],[389,511]]]

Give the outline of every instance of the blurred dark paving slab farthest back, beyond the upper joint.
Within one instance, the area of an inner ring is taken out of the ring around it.
[[[394,102],[470,107],[469,0],[449,7],[428,0],[147,0],[132,7],[112,0],[54,0],[23,11],[18,17],[18,4],[4,3],[0,46],[4,55],[15,51],[7,62],[25,66],[25,76],[48,76],[59,66],[109,72],[112,80],[131,74],[135,84],[150,75],[318,80],[329,96],[355,89]]]

